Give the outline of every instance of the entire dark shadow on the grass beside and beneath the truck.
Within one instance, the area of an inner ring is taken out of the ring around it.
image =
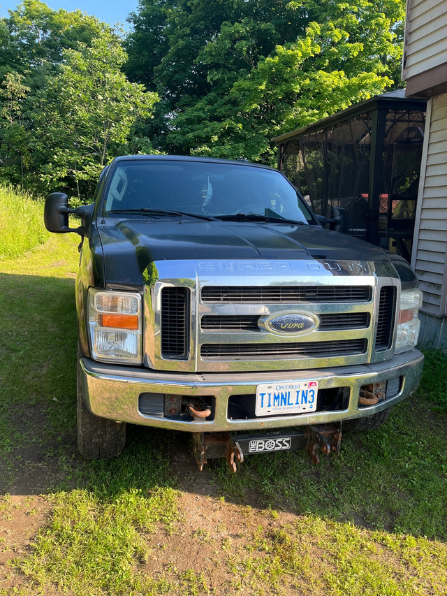
[[[251,507],[311,513],[366,528],[447,538],[445,416],[411,398],[390,421],[348,435],[340,458],[314,467],[305,453],[254,456],[230,474],[203,473],[190,437],[129,426],[121,457],[86,462],[76,448],[74,280],[0,275],[0,478],[15,495],[86,488],[110,502],[161,486]]]

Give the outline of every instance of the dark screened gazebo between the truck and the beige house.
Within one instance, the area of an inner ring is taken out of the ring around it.
[[[410,261],[426,102],[404,89],[274,138],[278,167],[330,217],[345,208],[349,234]]]

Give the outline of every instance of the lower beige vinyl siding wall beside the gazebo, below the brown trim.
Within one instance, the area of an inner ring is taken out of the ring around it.
[[[447,94],[430,99],[420,170],[412,265],[424,293],[423,311],[446,314]]]

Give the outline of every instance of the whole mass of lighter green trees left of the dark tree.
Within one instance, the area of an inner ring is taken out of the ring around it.
[[[0,39],[0,180],[91,194],[105,163],[138,145],[156,94],[126,78],[115,31],[79,10],[24,0]]]

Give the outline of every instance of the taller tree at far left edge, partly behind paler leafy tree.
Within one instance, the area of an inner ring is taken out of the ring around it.
[[[61,68],[64,48],[78,48],[108,25],[80,10],[51,10],[38,0],[24,0],[9,16],[0,18],[0,179],[39,188],[45,165],[36,151],[40,131],[36,106],[45,105],[48,82]]]

